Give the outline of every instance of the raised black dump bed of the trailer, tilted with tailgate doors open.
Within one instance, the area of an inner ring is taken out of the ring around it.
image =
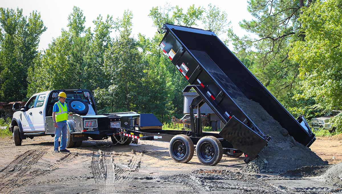
[[[171,24],[158,31],[165,33],[159,47],[190,84],[183,92],[195,89],[199,94],[190,105],[190,115],[207,103],[224,123],[218,139],[243,152],[246,162],[257,157],[271,137],[235,102],[239,97],[258,102],[297,142],[309,147],[315,141],[304,117],[295,119],[215,33]],[[201,137],[200,119],[196,122],[192,119],[192,135]]]

